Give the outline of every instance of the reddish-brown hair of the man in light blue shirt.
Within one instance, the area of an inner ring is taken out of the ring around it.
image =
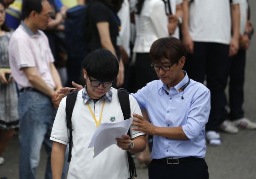
[[[159,63],[161,59],[169,59],[177,63],[182,56],[187,56],[187,50],[182,41],[175,37],[163,37],[154,41],[149,51],[152,62]]]

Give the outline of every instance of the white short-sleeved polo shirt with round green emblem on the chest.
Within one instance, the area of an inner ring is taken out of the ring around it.
[[[112,88],[112,102],[106,101],[102,112],[101,123],[117,123],[124,120],[119,104],[117,89]],[[133,113],[142,114],[137,101],[131,96],[131,116]],[[102,109],[103,100],[96,103],[88,101],[97,121]],[[66,97],[60,103],[58,112],[52,127],[50,140],[68,145],[69,131],[66,123]],[[115,121],[112,122],[110,118]],[[97,157],[93,158],[93,149],[88,149],[92,135],[97,129],[96,123],[88,109],[83,103],[82,90],[78,92],[72,114],[73,147],[72,158],[68,170],[68,179],[127,179],[129,168],[127,153],[119,149],[117,145],[111,145]],[[144,135],[142,132],[130,128],[131,138]]]

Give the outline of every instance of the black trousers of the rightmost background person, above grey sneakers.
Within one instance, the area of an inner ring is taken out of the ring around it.
[[[242,108],[244,102],[246,51],[239,50],[237,55],[231,57],[229,72],[229,106],[230,120],[244,117]]]

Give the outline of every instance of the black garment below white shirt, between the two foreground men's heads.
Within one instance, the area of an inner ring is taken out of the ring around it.
[[[150,67],[151,59],[149,53],[136,53],[135,73],[136,91],[146,86],[147,83],[159,79],[154,70]]]

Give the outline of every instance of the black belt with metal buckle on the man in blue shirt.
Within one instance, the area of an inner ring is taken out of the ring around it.
[[[164,163],[164,164],[181,164],[187,162],[193,162],[197,160],[204,160],[204,158],[197,157],[184,157],[184,158],[161,158],[153,159],[155,162]]]

